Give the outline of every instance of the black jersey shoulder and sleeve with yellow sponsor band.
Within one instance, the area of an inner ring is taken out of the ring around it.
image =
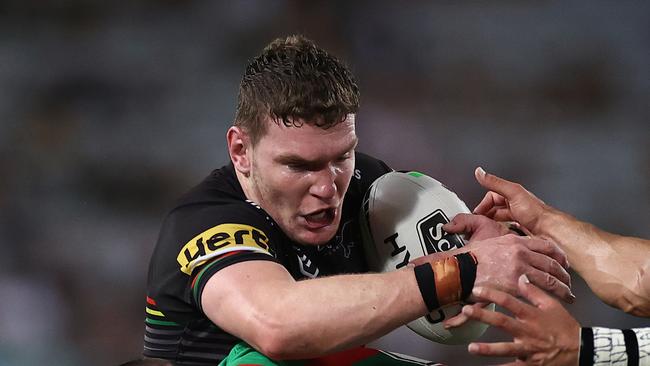
[[[240,190],[236,178],[216,170],[182,196],[163,221],[152,263],[192,276],[195,269],[226,253],[274,257],[274,243],[280,237],[277,225]]]

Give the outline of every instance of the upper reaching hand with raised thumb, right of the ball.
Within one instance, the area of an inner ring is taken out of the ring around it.
[[[540,219],[554,211],[521,184],[488,174],[480,167],[476,168],[474,176],[488,190],[474,209],[475,214],[496,221],[517,221],[525,232],[538,234]]]

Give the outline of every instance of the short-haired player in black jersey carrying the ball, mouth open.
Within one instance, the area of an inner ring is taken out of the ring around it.
[[[358,106],[348,69],[303,37],[275,40],[253,59],[227,133],[231,163],[163,224],[145,356],[215,365],[245,342],[271,360],[320,357],[466,299],[474,283],[515,292],[522,273],[571,300],[557,246],[514,235],[364,274],[361,200],[390,168],[355,152]],[[450,277],[435,261],[460,279],[443,283]]]

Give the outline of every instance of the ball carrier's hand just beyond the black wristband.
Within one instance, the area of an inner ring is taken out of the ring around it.
[[[568,260],[554,243],[534,237],[508,234],[474,241],[463,249],[474,253],[478,261],[474,287],[495,287],[517,294],[517,280],[526,274],[542,289],[572,303],[571,277],[565,268]],[[471,301],[479,299],[470,296]]]

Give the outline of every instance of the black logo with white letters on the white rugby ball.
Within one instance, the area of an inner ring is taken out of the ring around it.
[[[418,237],[425,253],[446,252],[465,245],[459,235],[449,234],[442,229],[442,225],[448,222],[449,218],[442,210],[436,210],[418,221]]]

